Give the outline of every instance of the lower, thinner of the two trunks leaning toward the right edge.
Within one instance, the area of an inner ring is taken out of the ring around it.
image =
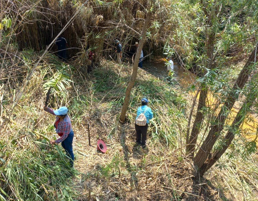
[[[229,148],[229,145],[231,144],[232,140],[235,137],[236,131],[239,130],[240,125],[245,120],[246,111],[248,109],[250,109],[250,107],[252,106],[252,104],[256,98],[257,90],[254,90],[253,92],[254,93],[250,94],[251,97],[249,96],[250,98],[238,111],[237,116],[235,117],[233,123],[231,124],[231,126],[229,128],[228,133],[226,134],[226,136],[223,139],[223,142],[225,142],[225,144],[223,144],[222,149],[219,151],[216,151],[212,155],[212,157],[207,162],[205,162],[203,164],[203,166],[201,166],[201,171],[200,171],[201,175],[203,175],[208,169],[210,169],[214,165],[214,163],[216,161],[218,161],[219,158],[221,158],[221,156],[227,150],[227,148]]]

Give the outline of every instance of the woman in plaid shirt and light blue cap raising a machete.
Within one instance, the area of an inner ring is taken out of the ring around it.
[[[51,140],[51,144],[58,144],[61,142],[62,147],[65,149],[66,155],[70,158],[71,167],[74,166],[74,152],[73,152],[73,138],[74,132],[72,130],[71,119],[67,114],[67,107],[60,107],[58,110],[53,110],[49,107],[43,108],[46,112],[56,115],[54,127],[57,134],[60,136],[57,140]]]

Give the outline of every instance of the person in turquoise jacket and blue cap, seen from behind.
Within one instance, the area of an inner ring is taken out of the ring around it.
[[[149,124],[149,119],[153,118],[153,113],[151,111],[151,108],[148,107],[148,99],[143,98],[141,99],[142,102],[142,106],[138,107],[137,109],[137,116],[136,119],[138,118],[138,116],[140,115],[140,113],[143,113],[144,116],[147,119],[147,123],[145,126],[139,126],[137,124],[135,124],[135,130],[136,130],[136,143],[140,144],[143,148],[146,147],[146,139],[147,139],[147,130],[148,130],[148,124]]]

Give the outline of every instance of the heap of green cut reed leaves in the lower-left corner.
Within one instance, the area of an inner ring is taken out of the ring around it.
[[[11,136],[8,144],[1,141],[1,147],[8,150],[1,153],[7,163],[0,168],[1,180],[6,182],[1,191],[5,192],[6,199],[10,195],[15,200],[52,200],[56,192],[58,199],[72,200],[77,193],[69,183],[71,176],[78,173],[70,169],[62,149],[50,147],[47,140],[37,139],[33,133],[26,133],[25,143],[19,139],[22,134]],[[13,189],[13,195],[7,187]]]

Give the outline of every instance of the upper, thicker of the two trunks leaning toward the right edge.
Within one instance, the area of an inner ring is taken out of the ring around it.
[[[224,105],[221,107],[221,110],[215,119],[215,123],[211,126],[208,136],[202,143],[201,148],[199,149],[198,153],[194,158],[194,163],[198,167],[199,172],[202,172],[201,167],[204,165],[204,162],[209,156],[215,142],[219,137],[221,130],[223,129],[227,116],[229,115],[235,101],[238,99],[238,91],[240,89],[243,89],[244,85],[248,80],[249,75],[253,71],[253,62],[255,60],[255,56],[257,57],[258,55],[256,54],[256,52],[257,49],[254,49],[248,61],[246,62],[244,68],[240,72],[232,90],[229,91],[228,98],[226,99]]]

